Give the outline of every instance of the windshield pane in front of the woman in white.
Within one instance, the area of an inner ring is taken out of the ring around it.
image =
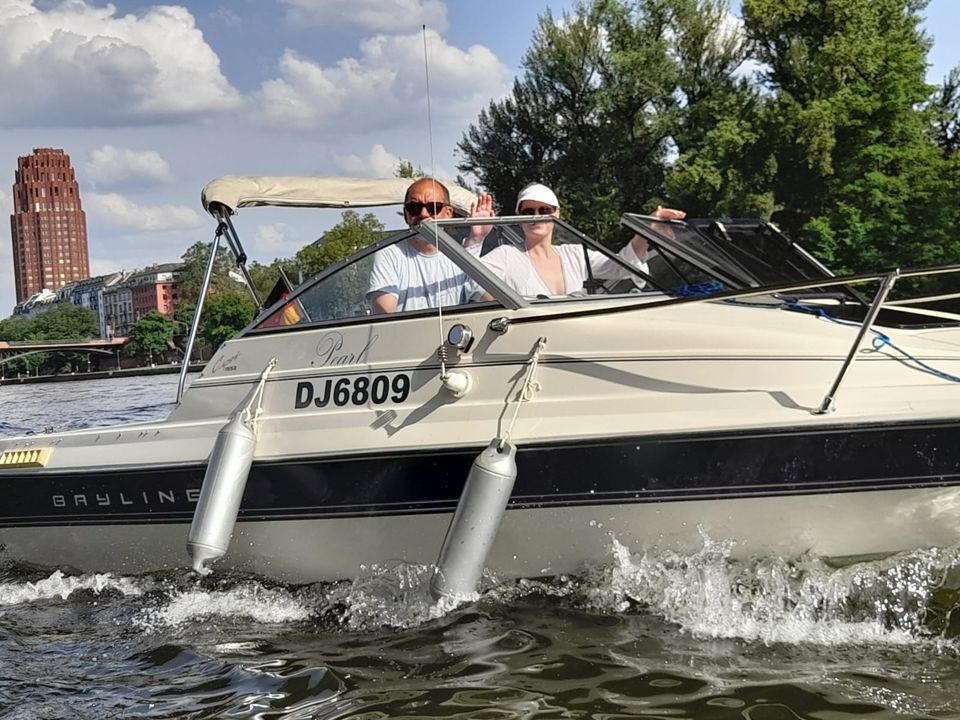
[[[648,272],[646,241],[611,251],[548,215],[427,221],[420,232],[508,307],[517,296],[571,302],[663,289]]]

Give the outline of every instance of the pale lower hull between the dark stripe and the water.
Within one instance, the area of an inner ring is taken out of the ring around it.
[[[215,566],[286,582],[332,581],[392,561],[436,562],[451,513],[239,522]],[[9,557],[84,571],[139,574],[183,568],[189,523],[5,528]],[[582,571],[631,552],[691,554],[734,539],[731,556],[809,553],[847,561],[949,546],[960,537],[960,488],[734,498],[510,510],[487,568],[501,577]],[[878,538],[881,538],[878,540]]]

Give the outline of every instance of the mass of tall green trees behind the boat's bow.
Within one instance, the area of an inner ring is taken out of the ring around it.
[[[960,70],[926,84],[927,0],[582,0],[544,14],[459,169],[528,182],[598,239],[624,211],[772,218],[835,270],[960,259]]]

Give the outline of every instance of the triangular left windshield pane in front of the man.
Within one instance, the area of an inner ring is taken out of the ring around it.
[[[494,304],[435,243],[398,231],[322,271],[269,308],[247,328],[345,324],[393,315],[430,314]]]

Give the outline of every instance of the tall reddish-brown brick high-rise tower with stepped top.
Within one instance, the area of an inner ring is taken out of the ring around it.
[[[17,159],[10,235],[17,302],[90,276],[87,219],[63,150],[36,148]]]

